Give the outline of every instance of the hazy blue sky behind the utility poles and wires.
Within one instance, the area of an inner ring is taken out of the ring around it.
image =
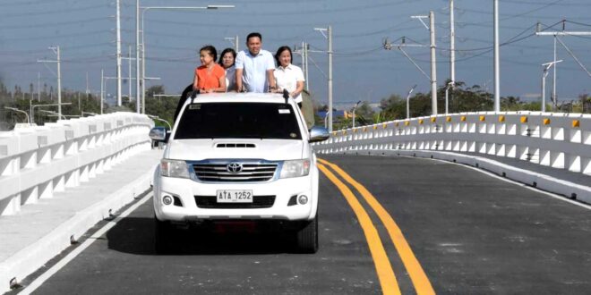
[[[379,101],[392,93],[405,95],[417,84],[429,91],[429,81],[398,50],[381,47],[383,38],[402,36],[428,44],[429,34],[411,15],[435,13],[439,48],[438,80],[449,78],[449,0],[227,0],[193,1],[143,0],[141,6],[202,6],[235,4],[235,9],[218,11],[148,11],[146,13],[146,75],[160,77],[167,93],[179,93],[193,79],[198,65],[197,48],[211,44],[219,51],[231,46],[226,37],[244,38],[251,31],[263,35],[263,47],[275,52],[278,46],[306,41],[314,50],[327,48],[327,41],[313,28],[332,26],[335,52],[333,63],[335,103],[357,100]],[[135,42],[135,1],[122,0],[123,54]],[[501,41],[523,38],[501,47],[501,96],[535,99],[540,93],[541,63],[552,61],[552,37],[528,37],[535,23],[543,28],[590,30],[591,3],[587,0],[500,0]],[[492,91],[492,0],[456,0],[457,80],[479,84]],[[37,63],[54,59],[48,46],[62,51],[62,85],[66,89],[100,88],[100,70],[114,76],[116,14],[114,0],[0,0],[0,79],[10,87],[29,89],[42,83],[56,85],[55,64]],[[591,38],[564,37],[565,45],[581,63],[591,68]],[[480,48],[480,49],[479,49]],[[429,72],[428,48],[407,48],[417,63]],[[326,100],[327,55],[311,53],[310,88],[319,101]],[[558,97],[571,99],[591,91],[591,80],[567,51],[559,46]],[[300,58],[295,56],[295,63]],[[124,61],[124,76],[128,66]],[[134,72],[134,70],[133,70]],[[551,87],[550,76],[547,80]],[[115,93],[115,81],[107,82]],[[124,84],[124,95],[127,85]]]

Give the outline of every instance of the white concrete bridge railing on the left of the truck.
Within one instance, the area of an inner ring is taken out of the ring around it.
[[[150,149],[146,115],[103,114],[0,132],[0,215],[90,181]]]

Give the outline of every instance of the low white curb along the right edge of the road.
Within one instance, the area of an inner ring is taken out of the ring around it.
[[[467,164],[492,173],[496,173],[513,181],[525,183],[540,190],[550,191],[566,198],[577,199],[579,202],[591,204],[591,187],[570,181],[563,181],[543,173],[531,172],[480,156],[429,150],[381,149],[366,150],[363,152],[347,151],[343,154],[360,156],[415,156],[422,158],[433,158],[458,164]]]

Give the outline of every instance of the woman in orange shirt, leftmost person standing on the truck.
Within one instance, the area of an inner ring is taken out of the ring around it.
[[[203,46],[199,50],[201,66],[195,69],[193,90],[201,93],[226,92],[226,72],[218,63],[218,52],[214,46]]]

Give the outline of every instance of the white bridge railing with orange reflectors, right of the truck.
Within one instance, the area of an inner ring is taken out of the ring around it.
[[[321,154],[439,150],[518,158],[591,174],[591,115],[481,112],[418,117],[333,131]]]

